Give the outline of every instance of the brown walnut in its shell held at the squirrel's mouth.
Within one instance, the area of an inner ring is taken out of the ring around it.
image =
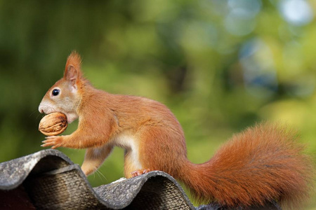
[[[39,131],[46,136],[61,134],[68,126],[67,116],[64,113],[50,113],[39,122]]]

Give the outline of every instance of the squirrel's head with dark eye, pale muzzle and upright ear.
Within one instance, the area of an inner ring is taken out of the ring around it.
[[[63,78],[46,92],[39,104],[39,112],[65,113],[68,123],[72,123],[78,118],[77,108],[81,101],[82,83],[84,78],[81,73],[81,58],[77,52],[72,52],[67,59]]]

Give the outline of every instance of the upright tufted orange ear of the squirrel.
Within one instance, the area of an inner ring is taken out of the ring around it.
[[[77,52],[72,52],[67,58],[64,78],[75,85],[76,81],[81,78],[81,58]]]

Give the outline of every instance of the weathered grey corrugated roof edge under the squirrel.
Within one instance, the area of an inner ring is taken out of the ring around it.
[[[277,209],[272,205],[271,209]],[[150,172],[92,188],[56,150],[0,163],[0,209],[195,209],[169,174]],[[221,209],[216,204],[197,209]]]

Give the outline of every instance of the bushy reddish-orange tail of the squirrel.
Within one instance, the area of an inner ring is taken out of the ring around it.
[[[307,200],[313,166],[297,134],[261,124],[232,137],[201,165],[187,162],[183,182],[200,201],[249,207],[275,200],[287,209]]]

